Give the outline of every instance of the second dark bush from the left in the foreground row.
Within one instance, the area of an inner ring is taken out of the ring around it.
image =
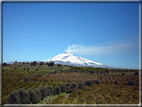
[[[18,95],[20,98],[20,104],[28,104],[30,102],[30,95],[29,95],[28,91],[26,91],[24,89],[19,89]]]

